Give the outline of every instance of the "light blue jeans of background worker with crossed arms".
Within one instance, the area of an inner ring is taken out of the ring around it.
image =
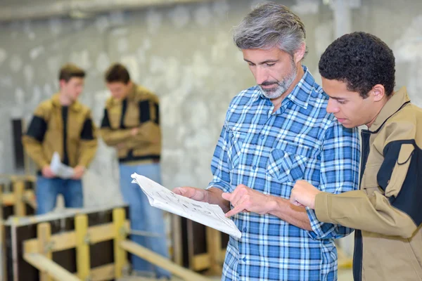
[[[169,252],[165,239],[164,218],[161,209],[151,207],[148,198],[143,193],[139,185],[132,183],[131,175],[136,173],[141,176],[151,178],[156,183],[161,184],[161,168],[159,163],[127,165],[120,164],[120,188],[123,200],[129,204],[129,217],[133,230],[143,230],[162,235],[162,237],[146,237],[130,235],[130,239],[142,246],[155,251],[161,256],[168,258]],[[131,256],[132,268],[139,273],[153,273],[157,277],[169,277],[167,270],[153,266],[138,256]]]

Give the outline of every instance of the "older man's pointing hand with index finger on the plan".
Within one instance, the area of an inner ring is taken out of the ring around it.
[[[252,190],[246,185],[238,185],[234,192],[224,192],[222,197],[231,202],[234,209],[226,213],[226,217],[234,216],[241,211],[252,211],[257,214],[267,214],[273,206],[271,196]]]

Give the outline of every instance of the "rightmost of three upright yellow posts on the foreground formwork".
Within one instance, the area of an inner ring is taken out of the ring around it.
[[[124,231],[124,220],[126,219],[126,212],[122,208],[113,209],[113,224],[114,224],[114,261],[115,261],[115,277],[122,277],[122,270],[127,265],[127,254],[120,247],[120,242],[126,239],[126,232]]]

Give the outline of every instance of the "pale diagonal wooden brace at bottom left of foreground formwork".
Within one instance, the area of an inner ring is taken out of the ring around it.
[[[68,270],[65,270],[65,268],[59,266],[57,263],[51,261],[51,259],[46,258],[44,255],[24,254],[23,259],[37,268],[40,272],[53,277],[54,280],[80,281],[78,277],[70,273]]]

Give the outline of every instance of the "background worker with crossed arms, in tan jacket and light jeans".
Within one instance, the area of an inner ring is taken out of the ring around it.
[[[137,173],[161,183],[158,97],[131,81],[124,65],[111,65],[105,79],[111,97],[106,101],[101,136],[107,145],[117,149],[120,188],[124,201],[129,204],[131,228],[161,235],[132,235],[131,239],[168,257],[162,211],[151,207],[146,195],[138,185],[132,183],[131,178],[133,173]],[[138,256],[132,256],[132,267],[139,275],[170,279],[167,270],[153,266]]]

